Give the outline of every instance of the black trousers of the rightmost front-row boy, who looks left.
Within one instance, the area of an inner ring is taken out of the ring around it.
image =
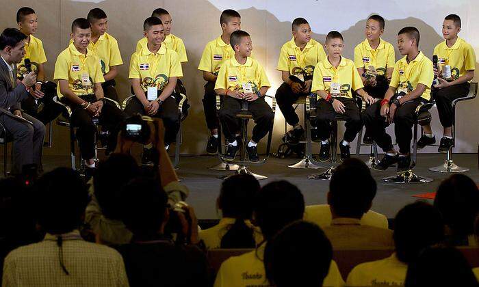
[[[396,109],[396,113],[394,114],[394,134],[396,135],[399,152],[402,154],[411,152],[411,140],[413,139],[413,131],[411,131],[411,128],[416,121],[415,110],[422,101],[422,98],[417,98],[405,102]],[[391,136],[385,131],[389,123],[386,121],[386,118],[380,115],[380,109],[380,102],[375,102],[363,111],[362,116],[364,125],[371,132],[372,138],[378,146],[386,152],[393,148],[393,143]]]

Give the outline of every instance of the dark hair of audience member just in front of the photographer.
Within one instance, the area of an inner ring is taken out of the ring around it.
[[[121,191],[122,221],[135,235],[152,236],[165,221],[168,196],[153,178],[138,177]]]

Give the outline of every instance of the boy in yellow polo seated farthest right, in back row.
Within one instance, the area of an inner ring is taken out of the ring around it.
[[[443,137],[439,144],[438,152],[445,153],[452,148],[452,124],[454,111],[452,100],[463,98],[469,93],[469,81],[474,78],[476,70],[476,54],[472,46],[459,38],[461,31],[461,18],[450,14],[444,18],[444,42],[438,44],[433,55],[438,58],[438,68],[435,69],[437,83],[433,85],[432,98],[436,100],[439,120],[444,128]],[[430,124],[423,126],[424,135],[417,141],[417,148],[434,144],[436,138],[432,133]]]

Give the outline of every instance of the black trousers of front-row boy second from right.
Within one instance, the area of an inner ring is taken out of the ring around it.
[[[341,101],[346,107],[345,113],[340,114],[335,111],[331,103],[320,99],[316,107],[316,114],[318,116],[316,125],[318,126],[318,134],[320,139],[325,141],[331,135],[331,121],[338,116],[346,119],[346,131],[344,131],[344,140],[351,142],[356,138],[357,133],[361,130],[363,122],[361,122],[361,115],[356,105],[356,101],[352,98],[336,98]]]

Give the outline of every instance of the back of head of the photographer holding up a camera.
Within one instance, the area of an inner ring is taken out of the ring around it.
[[[94,194],[101,212],[109,219],[120,219],[120,189],[140,175],[140,167],[133,156],[112,154],[102,161],[93,178]]]

